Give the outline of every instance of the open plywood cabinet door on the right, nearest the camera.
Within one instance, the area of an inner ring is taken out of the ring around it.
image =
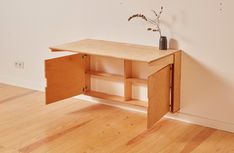
[[[170,65],[148,77],[148,128],[170,109]]]

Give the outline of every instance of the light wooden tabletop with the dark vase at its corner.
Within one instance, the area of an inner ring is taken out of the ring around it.
[[[179,50],[159,50],[157,47],[85,39],[50,47],[52,51],[70,51],[89,55],[114,57],[119,59],[151,63]]]

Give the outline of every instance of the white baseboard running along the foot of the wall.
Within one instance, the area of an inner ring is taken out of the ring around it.
[[[32,82],[28,80],[22,80],[22,79],[17,79],[14,77],[3,76],[3,75],[0,75],[0,82],[9,84],[9,85],[23,87],[23,88],[39,90],[39,91],[44,91],[44,87],[45,87],[45,83],[42,83],[42,82]],[[132,106],[132,105],[130,106],[127,104],[120,104],[120,103],[116,103],[112,101],[92,98],[92,97],[85,96],[85,95],[76,96],[75,98],[88,101],[88,102],[92,102],[92,103],[102,103],[102,104],[106,104],[110,106],[115,106],[115,107],[119,107],[122,109],[130,110],[130,111],[137,111],[137,112],[141,112],[145,114],[147,113],[147,110],[142,107],[137,107],[137,106]],[[170,118],[174,120],[179,120],[179,121],[183,121],[187,123],[197,124],[197,125],[201,125],[205,127],[215,128],[215,129],[234,133],[234,123],[228,123],[228,122],[218,121],[214,119],[209,119],[203,116],[196,116],[194,114],[188,114],[188,113],[183,113],[183,112],[179,112],[175,114],[168,113],[167,115],[165,115],[165,118]]]

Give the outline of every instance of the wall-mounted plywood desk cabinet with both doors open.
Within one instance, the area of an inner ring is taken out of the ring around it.
[[[156,47],[103,40],[86,39],[50,48],[53,52],[77,54],[45,61],[47,79],[46,103],[85,94],[96,98],[148,107],[148,128],[167,112],[180,109],[181,52],[161,51]],[[90,69],[90,56],[121,59],[124,75],[97,72]],[[147,63],[150,73],[146,79],[132,77],[132,62]],[[122,81],[124,96],[108,95],[91,90],[91,77]],[[132,85],[148,87],[148,102],[132,98]]]

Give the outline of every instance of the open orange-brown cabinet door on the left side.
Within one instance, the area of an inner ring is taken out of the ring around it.
[[[83,93],[85,56],[74,54],[45,61],[46,104]]]

